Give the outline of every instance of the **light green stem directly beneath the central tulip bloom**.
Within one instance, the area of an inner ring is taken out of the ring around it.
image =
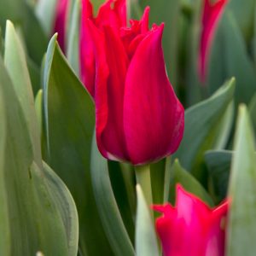
[[[153,203],[152,200],[152,189],[151,189],[151,177],[150,177],[150,166],[135,166],[135,174],[137,184],[140,184],[143,189],[145,200],[147,201],[148,207]]]

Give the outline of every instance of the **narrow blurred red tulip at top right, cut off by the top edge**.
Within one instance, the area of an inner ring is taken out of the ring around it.
[[[201,39],[198,68],[201,82],[205,83],[207,76],[207,62],[212,46],[212,38],[228,0],[217,0],[215,3],[212,3],[212,0],[203,1],[204,7],[201,16]]]

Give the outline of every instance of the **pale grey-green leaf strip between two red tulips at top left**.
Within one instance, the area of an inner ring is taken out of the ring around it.
[[[79,33],[81,1],[74,0],[67,40],[67,60],[74,72],[79,75]]]

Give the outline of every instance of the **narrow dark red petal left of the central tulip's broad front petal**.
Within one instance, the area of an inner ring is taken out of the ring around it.
[[[110,26],[104,28],[108,77],[108,122],[102,131],[102,145],[118,159],[128,160],[126,153],[123,106],[125,75],[129,64],[125,48],[119,36]]]

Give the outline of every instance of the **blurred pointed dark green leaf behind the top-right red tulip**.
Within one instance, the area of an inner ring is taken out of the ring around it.
[[[236,77],[236,105],[250,102],[256,90],[256,73],[234,15],[227,9],[212,44],[207,84],[209,90],[215,91],[231,76]]]

